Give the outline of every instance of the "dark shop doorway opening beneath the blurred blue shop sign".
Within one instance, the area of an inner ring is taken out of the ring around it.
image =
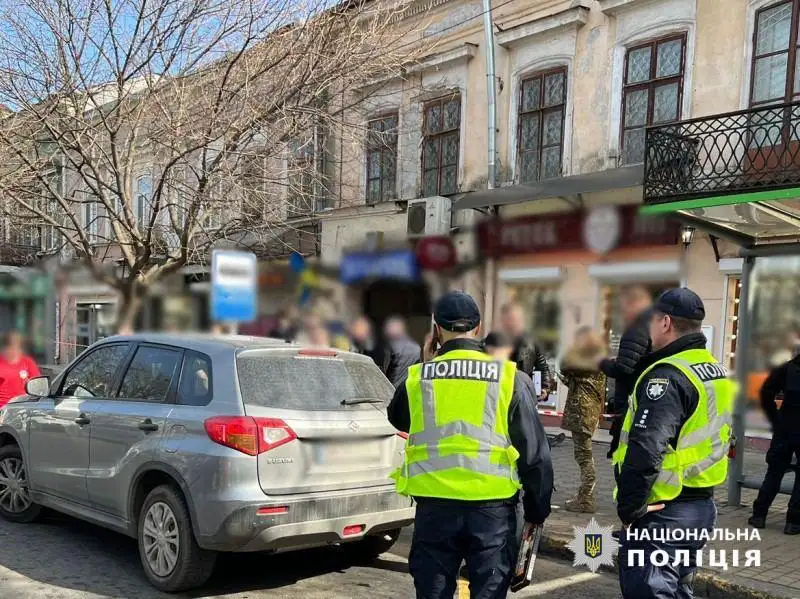
[[[364,314],[377,330],[391,316],[406,319],[408,334],[422,344],[431,327],[431,304],[428,286],[424,283],[380,280],[368,285],[362,293]]]

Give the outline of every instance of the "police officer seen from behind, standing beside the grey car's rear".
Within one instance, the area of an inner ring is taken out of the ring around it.
[[[530,378],[483,351],[480,312],[462,292],[436,304],[435,343],[389,405],[409,433],[397,490],[417,500],[409,569],[418,599],[452,599],[462,560],[473,599],[506,597],[525,519],[550,514],[553,468]]]

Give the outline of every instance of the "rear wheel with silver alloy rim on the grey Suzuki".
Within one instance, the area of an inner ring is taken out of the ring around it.
[[[217,554],[197,544],[186,501],[173,486],[161,485],[147,495],[136,539],[145,574],[161,591],[203,586],[214,570]]]

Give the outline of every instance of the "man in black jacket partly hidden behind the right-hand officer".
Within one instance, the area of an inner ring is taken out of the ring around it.
[[[614,379],[611,412],[615,414],[615,418],[611,425],[609,458],[619,445],[620,429],[628,409],[628,396],[644,370],[642,358],[650,351],[649,308],[653,302],[650,292],[642,285],[630,285],[623,289],[620,301],[622,320],[626,328],[619,342],[619,351],[616,358],[606,358],[600,362],[603,374]]]

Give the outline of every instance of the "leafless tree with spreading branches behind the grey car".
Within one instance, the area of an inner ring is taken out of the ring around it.
[[[121,327],[220,240],[275,237],[331,193],[348,90],[429,51],[392,3],[312,2],[5,4],[0,206],[116,289]]]

